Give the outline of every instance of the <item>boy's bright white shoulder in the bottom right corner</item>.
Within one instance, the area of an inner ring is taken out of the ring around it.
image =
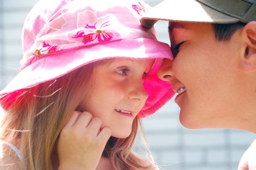
[[[243,154],[238,170],[256,170],[256,140]]]

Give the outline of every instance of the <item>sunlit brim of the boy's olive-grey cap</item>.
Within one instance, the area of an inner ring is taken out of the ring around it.
[[[140,19],[142,25],[148,29],[158,20],[235,23],[240,19],[225,15],[196,0],[164,0]]]

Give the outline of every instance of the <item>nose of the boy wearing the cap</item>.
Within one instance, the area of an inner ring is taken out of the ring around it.
[[[158,77],[164,81],[171,82],[171,78],[173,76],[174,73],[172,71],[172,60],[165,58],[158,70]]]

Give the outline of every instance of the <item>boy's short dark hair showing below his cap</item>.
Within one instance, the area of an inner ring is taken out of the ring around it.
[[[212,24],[215,32],[215,38],[218,41],[228,41],[231,36],[246,23],[236,22],[232,24]]]

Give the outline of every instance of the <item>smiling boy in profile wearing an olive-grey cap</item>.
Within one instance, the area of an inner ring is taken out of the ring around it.
[[[183,126],[256,133],[256,0],[164,0],[141,23],[160,19],[175,58],[159,77],[179,93]],[[238,170],[256,170],[256,143]]]

